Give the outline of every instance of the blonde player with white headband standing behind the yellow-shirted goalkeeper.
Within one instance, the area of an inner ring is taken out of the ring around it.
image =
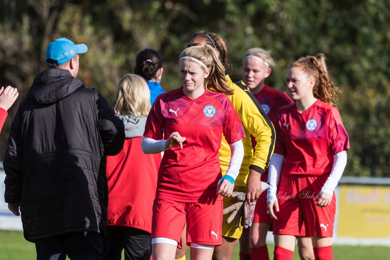
[[[252,94],[261,104],[268,118],[275,125],[276,113],[282,106],[292,104],[293,101],[285,92],[267,86],[264,81],[271,74],[271,67],[275,62],[268,51],[262,48],[252,48],[243,57],[243,81]],[[256,140],[252,138],[252,147],[255,149]],[[276,137],[278,138],[278,136]],[[261,176],[263,182],[268,180],[268,168]],[[262,193],[257,200],[253,224],[248,230],[243,230],[240,239],[241,253],[250,253],[252,259],[268,260],[266,236],[272,231],[273,219],[267,212],[267,193]],[[250,248],[249,248],[250,247]],[[301,259],[313,259],[313,246],[310,237],[298,237],[298,248]]]

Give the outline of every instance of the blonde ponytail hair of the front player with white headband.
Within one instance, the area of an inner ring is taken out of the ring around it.
[[[233,94],[233,90],[227,85],[225,68],[218,58],[216,51],[209,44],[206,46],[188,47],[180,53],[179,58],[182,57],[191,57],[200,60],[210,70],[209,76],[204,80],[205,89],[214,88],[216,91],[226,95]],[[200,64],[199,67],[205,70]]]

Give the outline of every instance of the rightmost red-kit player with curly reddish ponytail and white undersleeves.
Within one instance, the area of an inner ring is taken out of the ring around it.
[[[328,76],[323,54],[294,62],[287,72],[287,89],[296,102],[278,110],[279,138],[268,177],[268,210],[275,219],[274,259],[292,259],[300,235],[312,238],[316,260],[333,259],[333,191],[349,149],[335,107],[340,90]]]

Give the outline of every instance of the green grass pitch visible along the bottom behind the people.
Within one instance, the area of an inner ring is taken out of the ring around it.
[[[238,260],[239,247],[234,251],[233,260]],[[270,255],[273,245],[268,245]],[[293,260],[299,260],[298,250]],[[0,230],[0,259],[1,260],[29,260],[36,259],[35,244],[25,241],[22,232]],[[186,255],[190,259],[189,252]],[[385,260],[390,259],[390,247],[385,246],[333,246],[335,260]],[[124,258],[122,258],[124,259]],[[272,259],[272,257],[271,257]]]

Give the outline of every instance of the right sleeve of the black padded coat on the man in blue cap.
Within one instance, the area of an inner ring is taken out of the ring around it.
[[[106,155],[117,155],[123,148],[125,133],[122,120],[115,116],[115,112],[108,106],[106,99],[95,93],[97,126],[103,141]]]

